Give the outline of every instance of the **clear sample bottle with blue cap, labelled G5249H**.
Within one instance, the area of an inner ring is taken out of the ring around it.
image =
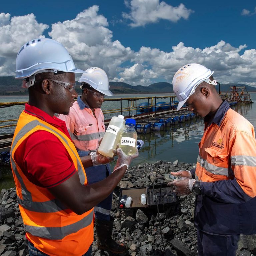
[[[137,147],[136,121],[132,118],[126,119],[125,128],[121,134],[119,147],[126,155],[134,155]]]

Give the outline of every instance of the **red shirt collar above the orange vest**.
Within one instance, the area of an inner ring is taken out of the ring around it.
[[[28,103],[25,104],[24,112],[29,115],[36,116],[37,118],[55,126],[56,128],[60,129],[62,132],[64,132],[69,137],[69,133],[68,133],[65,121],[60,120],[56,116],[52,117],[52,116],[48,115],[46,112],[44,112],[43,110],[41,110],[35,106],[31,106]]]

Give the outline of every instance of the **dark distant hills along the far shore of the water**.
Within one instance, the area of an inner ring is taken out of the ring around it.
[[[132,93],[173,93],[172,84],[167,82],[153,83],[149,86],[131,86],[122,82],[109,82],[110,90],[114,94],[132,94]],[[230,86],[245,86],[248,92],[255,92],[256,88],[245,84],[221,84],[221,92],[230,92]],[[219,91],[219,85],[216,86]],[[79,86],[76,87],[78,94],[81,94]],[[26,88],[22,88],[22,80],[14,79],[12,76],[0,76],[0,95],[4,94],[27,94]]]

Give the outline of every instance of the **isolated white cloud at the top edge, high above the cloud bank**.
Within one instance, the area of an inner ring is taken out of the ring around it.
[[[122,13],[122,16],[132,21],[131,27],[156,23],[160,19],[177,22],[181,18],[188,19],[193,12],[187,9],[184,4],[173,7],[164,1],[159,2],[159,0],[126,0],[125,3],[131,11],[130,13]]]

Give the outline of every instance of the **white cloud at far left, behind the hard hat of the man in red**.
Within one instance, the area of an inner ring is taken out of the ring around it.
[[[0,74],[13,75],[16,56],[27,41],[43,37],[42,34],[49,26],[38,23],[34,14],[15,16],[9,13],[0,14]]]

